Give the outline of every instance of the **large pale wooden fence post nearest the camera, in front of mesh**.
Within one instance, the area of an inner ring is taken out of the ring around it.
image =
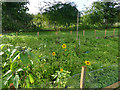
[[[80,78],[80,88],[83,90],[85,85],[85,74],[86,74],[86,66],[82,66],[81,70],[81,78]]]

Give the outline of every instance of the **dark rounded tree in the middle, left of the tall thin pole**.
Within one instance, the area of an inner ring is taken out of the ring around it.
[[[78,10],[73,2],[57,2],[44,9],[43,15],[51,24],[70,26],[76,24]]]

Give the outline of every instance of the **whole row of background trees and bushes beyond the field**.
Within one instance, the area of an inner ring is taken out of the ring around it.
[[[120,3],[93,2],[92,6],[79,11],[74,2],[44,2],[37,15],[29,14],[29,2],[2,2],[2,30],[76,30],[77,15],[79,29],[103,29],[120,27]]]

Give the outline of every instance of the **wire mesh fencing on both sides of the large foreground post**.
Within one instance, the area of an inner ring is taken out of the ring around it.
[[[86,72],[85,88],[104,88],[118,81],[118,66],[111,65],[102,69]],[[80,88],[81,73],[68,79],[66,84],[70,88]]]

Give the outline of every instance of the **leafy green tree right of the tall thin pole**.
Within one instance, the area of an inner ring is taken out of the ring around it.
[[[118,13],[115,8],[117,5],[116,2],[93,2],[92,7],[86,12],[86,19],[91,25],[104,25],[108,27],[110,24],[114,24],[116,22],[116,15]],[[106,27],[106,28],[107,28]]]

